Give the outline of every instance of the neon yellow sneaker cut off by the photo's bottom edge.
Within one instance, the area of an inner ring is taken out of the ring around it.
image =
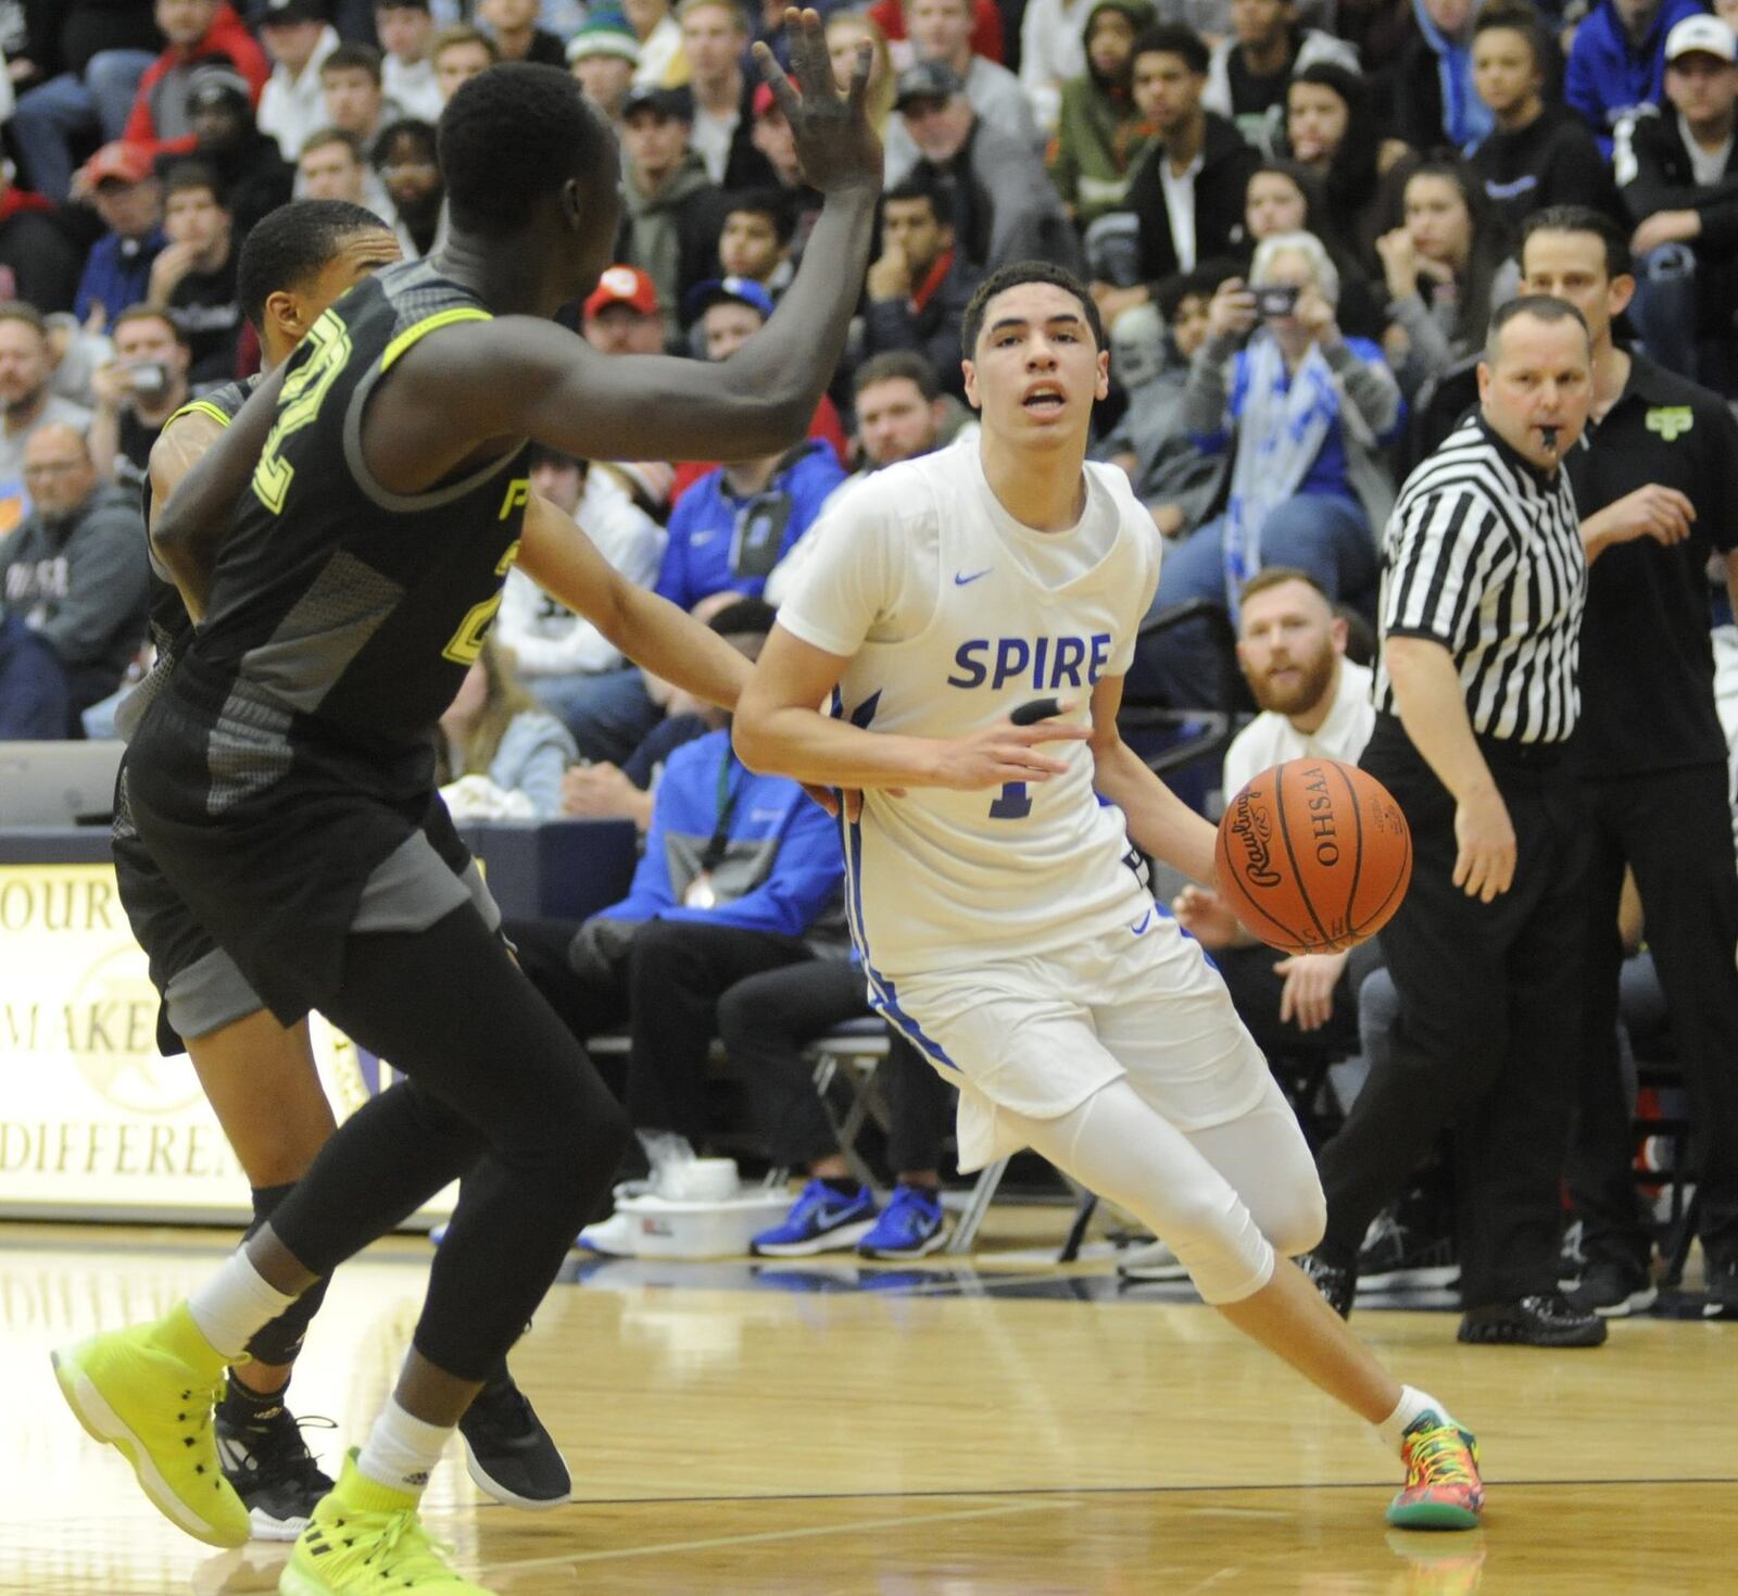
[[[494,1596],[447,1566],[417,1499],[363,1480],[351,1448],[278,1575],[278,1596]]]

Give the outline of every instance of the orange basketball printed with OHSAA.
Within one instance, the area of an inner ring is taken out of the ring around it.
[[[1373,937],[1411,880],[1411,829],[1382,782],[1338,760],[1286,760],[1218,822],[1218,890],[1239,923],[1286,953]]]

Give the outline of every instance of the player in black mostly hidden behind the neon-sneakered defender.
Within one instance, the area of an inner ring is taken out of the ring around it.
[[[282,365],[327,306],[398,257],[398,240],[374,212],[356,205],[301,200],[264,217],[242,247],[236,271],[242,311],[259,332],[264,369],[271,372]],[[255,382],[226,382],[170,416],[151,456],[146,523],[153,501],[169,499],[181,476],[235,419]],[[129,727],[169,682],[193,636],[181,593],[155,572],[151,631],[156,666],[127,704]],[[471,890],[478,909],[490,923],[499,923],[499,911],[438,800],[429,803],[424,829]],[[132,822],[125,761],[116,782],[113,855],[122,902],[163,1000],[158,1048],[172,1054],[184,1047],[191,1055],[217,1121],[247,1172],[254,1222],[262,1224],[306,1174],[335,1123],[320,1087],[308,1024],[278,1024],[235,960],[156,868]],[[323,1297],[322,1281],[249,1342],[249,1361],[228,1372],[217,1405],[216,1434],[224,1474],[249,1509],[255,1539],[294,1540],[315,1504],[332,1488],[285,1406],[290,1368]],[[471,1478],[497,1500],[535,1507],[568,1500],[567,1464],[504,1361],[466,1410],[461,1431],[469,1448]]]

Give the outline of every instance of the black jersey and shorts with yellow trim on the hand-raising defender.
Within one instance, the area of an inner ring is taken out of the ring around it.
[[[421,337],[488,315],[415,261],[315,323],[205,619],[134,734],[143,843],[285,1024],[341,986],[353,932],[471,902],[431,841],[434,728],[501,603],[525,450],[400,495],[368,471],[362,419]]]

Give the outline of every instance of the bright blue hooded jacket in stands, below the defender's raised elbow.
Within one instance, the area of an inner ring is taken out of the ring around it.
[[[726,589],[760,598],[766,574],[810,529],[827,494],[841,482],[845,471],[838,456],[820,438],[793,449],[766,487],[747,499],[730,492],[723,466],[707,471],[671,511],[655,591],[685,610]],[[744,523],[740,553],[739,520]]]

